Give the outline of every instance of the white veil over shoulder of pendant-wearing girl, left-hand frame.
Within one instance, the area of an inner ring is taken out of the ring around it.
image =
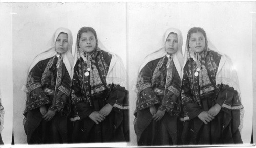
[[[76,65],[77,60],[80,58],[80,48],[79,48],[79,33],[80,31],[86,27],[82,27],[78,33],[77,33],[77,39],[76,39],[76,47],[75,47],[75,57],[74,57],[74,64],[72,68],[72,73],[74,72],[74,67]],[[108,74],[106,75],[106,83],[107,84],[119,84],[122,87],[125,87],[127,89],[127,73],[124,68],[122,59],[116,55],[115,53],[112,53],[108,50],[106,50],[105,46],[101,43],[99,38],[98,40],[98,49],[102,51],[106,51],[112,55],[112,59],[109,66]]]

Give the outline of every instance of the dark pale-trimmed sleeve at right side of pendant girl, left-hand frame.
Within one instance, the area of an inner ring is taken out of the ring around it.
[[[110,85],[110,84],[109,84]],[[110,95],[106,102],[113,106],[113,110],[120,112],[122,110],[128,110],[128,91],[120,85],[112,84]]]

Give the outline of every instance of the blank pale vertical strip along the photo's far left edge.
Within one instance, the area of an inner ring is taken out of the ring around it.
[[[4,129],[1,132],[5,145],[12,141],[12,7],[0,4],[0,90],[5,110]],[[3,21],[4,20],[4,21]]]

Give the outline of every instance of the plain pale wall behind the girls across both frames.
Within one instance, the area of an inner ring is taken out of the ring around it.
[[[127,64],[130,145],[136,145],[133,128],[135,93],[131,88],[133,79],[137,77],[138,67],[146,55],[156,50],[155,46],[167,28],[176,27],[182,31],[184,48],[187,31],[199,26],[205,29],[216,48],[231,57],[236,66],[245,108],[242,139],[248,144],[252,127],[251,4],[252,2],[13,3],[12,12],[16,13],[12,18],[15,143],[26,143],[22,125],[25,106],[25,95],[20,91],[22,80],[32,59],[45,50],[46,43],[58,27],[67,27],[72,31],[73,50],[77,31],[82,26],[94,27],[108,50],[120,55],[124,64]],[[3,95],[2,92],[2,97]]]

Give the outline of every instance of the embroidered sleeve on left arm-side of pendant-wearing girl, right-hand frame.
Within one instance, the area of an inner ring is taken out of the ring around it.
[[[203,110],[200,106],[194,102],[193,94],[190,88],[190,82],[188,79],[188,72],[184,68],[184,75],[182,80],[182,87],[181,87],[181,104],[183,107],[183,111],[186,114],[186,119],[193,119],[197,117]]]

